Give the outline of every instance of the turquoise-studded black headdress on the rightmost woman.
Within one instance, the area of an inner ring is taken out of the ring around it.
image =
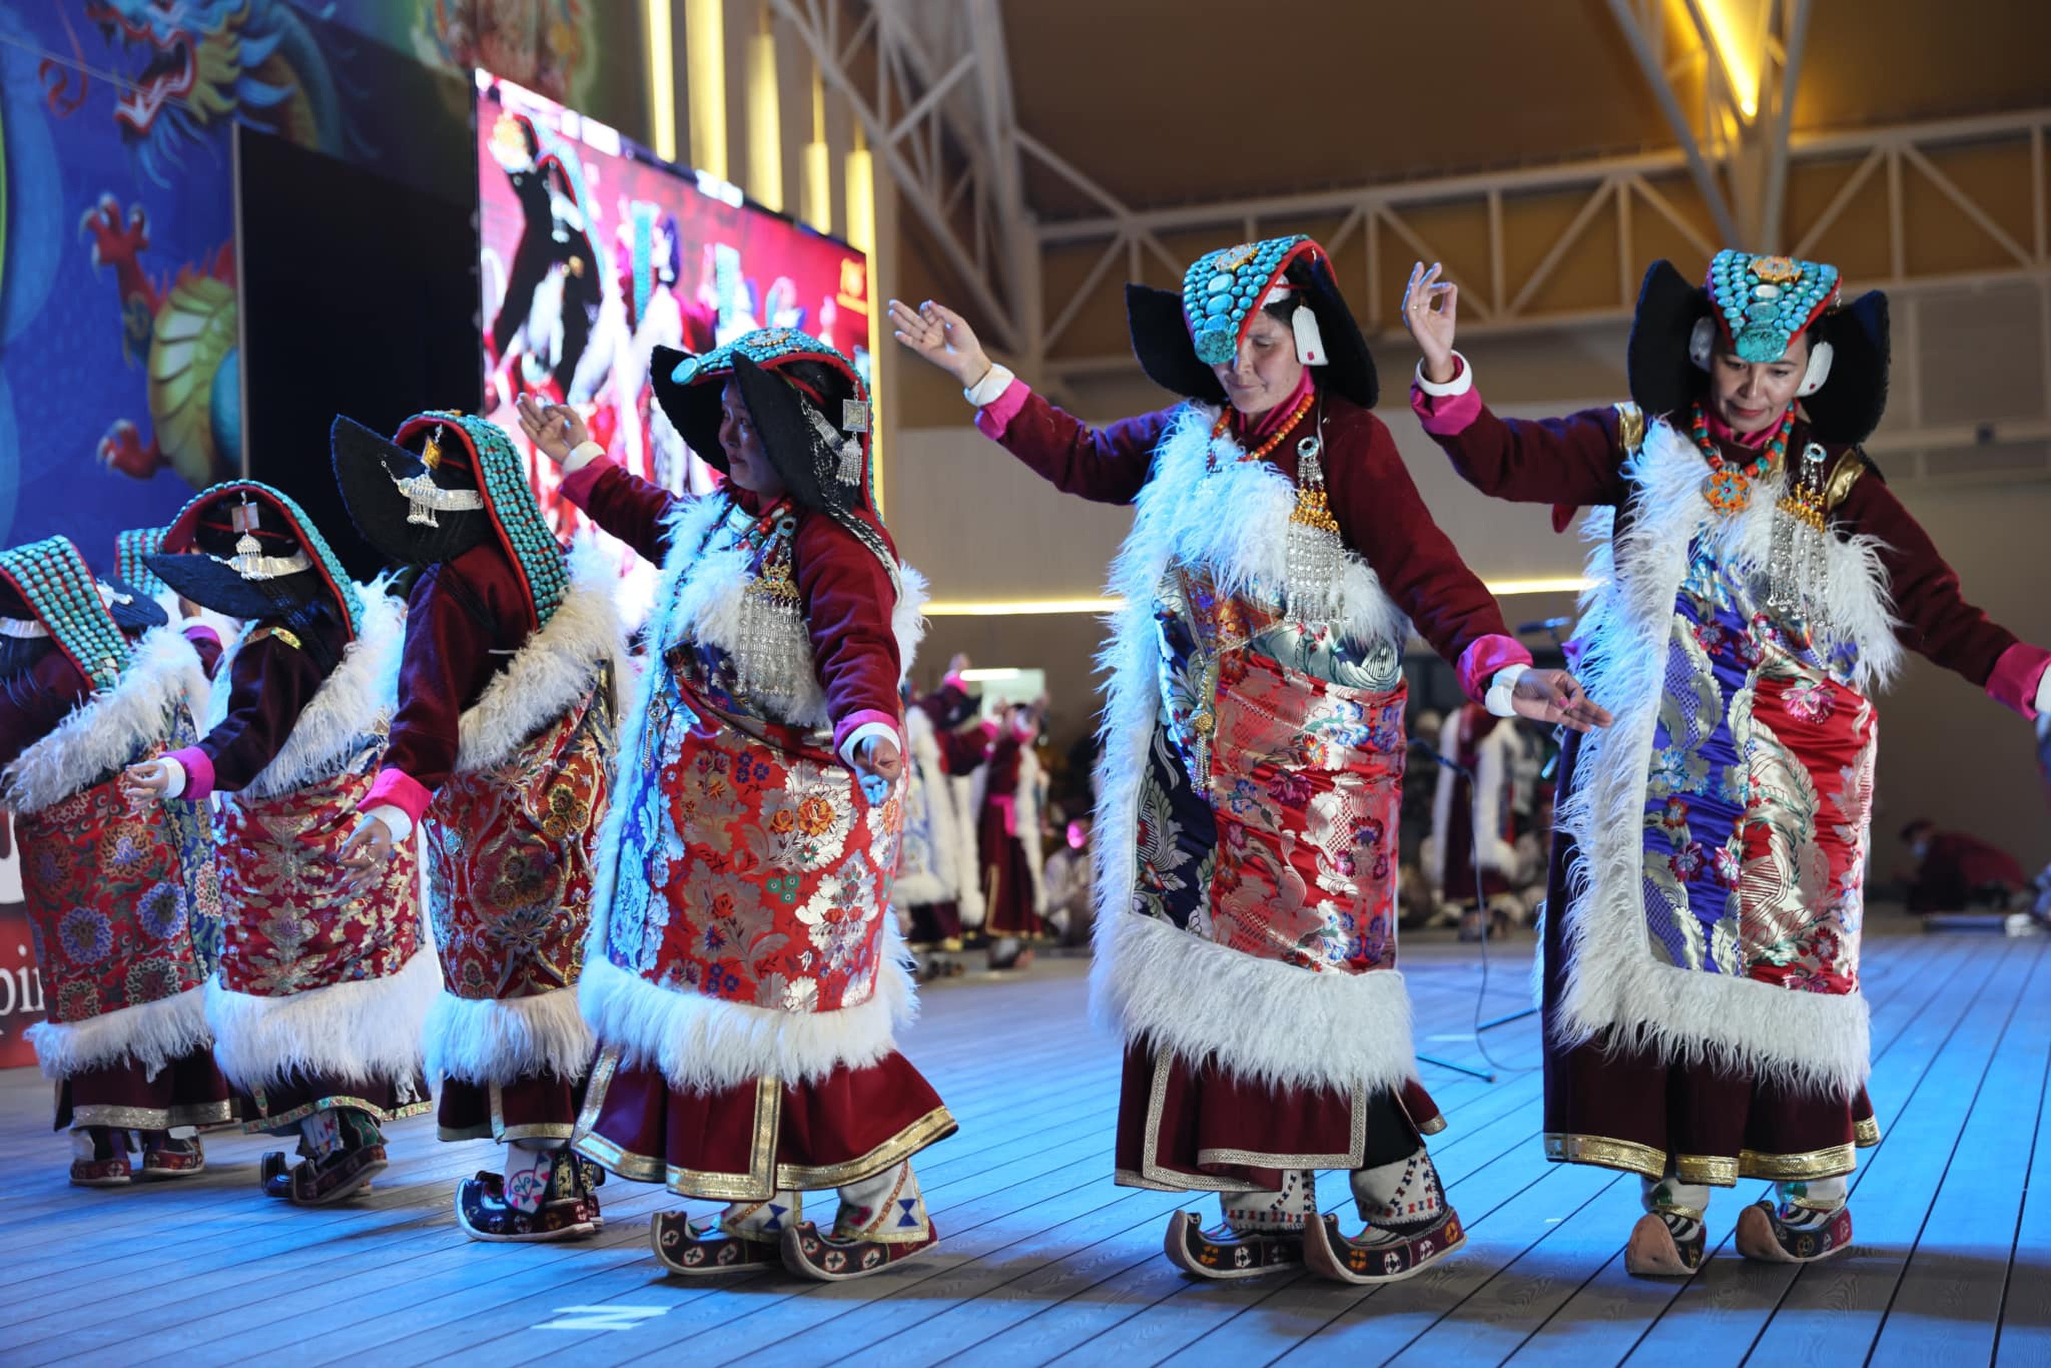
[[[1887,295],[1844,304],[1836,267],[1793,256],[1723,250],[1702,285],[1655,260],[1631,320],[1631,398],[1647,416],[1686,414],[1715,353],[1762,365],[1799,336],[1809,338],[1797,390],[1809,435],[1864,441],[1887,410]]]

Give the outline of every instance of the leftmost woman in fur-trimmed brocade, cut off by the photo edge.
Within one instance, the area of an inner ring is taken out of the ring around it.
[[[29,1038],[82,1188],[199,1173],[199,1140],[172,1132],[234,1120],[201,991],[205,818],[121,794],[127,763],[191,740],[203,691],[162,609],[94,582],[70,541],[0,554],[0,806],[47,1001]]]

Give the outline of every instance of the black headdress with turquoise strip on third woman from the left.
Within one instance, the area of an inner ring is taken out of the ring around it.
[[[562,607],[568,558],[541,517],[525,457],[496,423],[431,408],[386,441],[336,418],[328,445],[349,517],[384,558],[431,566],[492,539],[527,591],[529,628]]]

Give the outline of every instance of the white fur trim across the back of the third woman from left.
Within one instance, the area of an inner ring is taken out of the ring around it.
[[[591,695],[599,669],[621,677],[624,634],[613,560],[589,533],[570,550],[570,593],[529,636],[505,669],[492,675],[457,724],[457,773],[490,769],[527,745],[535,732]]]

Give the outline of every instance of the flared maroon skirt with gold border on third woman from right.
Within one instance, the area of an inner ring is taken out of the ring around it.
[[[890,1052],[816,1083],[757,1079],[679,1091],[660,1069],[599,1054],[574,1149],[638,1183],[685,1198],[763,1202],[874,1177],[956,1130],[933,1085]]]

